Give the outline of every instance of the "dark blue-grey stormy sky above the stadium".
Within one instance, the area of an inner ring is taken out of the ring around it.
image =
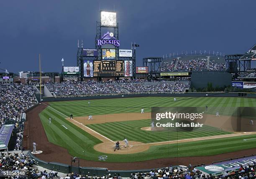
[[[244,53],[256,43],[256,0],[6,0],[0,2],[0,68],[76,66],[77,40],[93,48],[99,10],[115,10],[120,49],[142,58],[182,50]]]

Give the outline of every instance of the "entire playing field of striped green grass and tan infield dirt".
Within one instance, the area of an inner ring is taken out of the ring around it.
[[[138,97],[89,101],[60,101],[48,105],[39,115],[48,140],[71,156],[108,162],[209,156],[255,148],[255,132],[230,130],[238,107],[256,107],[254,98],[236,97]],[[151,129],[151,107],[201,107],[207,115],[203,127],[192,131],[179,128]],[[141,108],[144,113],[141,114]],[[216,117],[216,111],[220,117]],[[74,119],[70,119],[70,114]],[[88,116],[92,115],[92,120]],[[49,124],[51,118],[51,124]],[[246,124],[248,121],[246,121]],[[247,126],[247,128],[254,126]],[[123,138],[128,139],[125,148]],[[115,142],[121,149],[114,151]]]

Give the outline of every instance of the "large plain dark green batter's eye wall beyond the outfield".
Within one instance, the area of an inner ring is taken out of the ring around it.
[[[201,71],[191,74],[191,86],[194,88],[205,88],[207,83],[212,83],[212,87],[229,86],[231,81],[232,75],[227,71]]]

